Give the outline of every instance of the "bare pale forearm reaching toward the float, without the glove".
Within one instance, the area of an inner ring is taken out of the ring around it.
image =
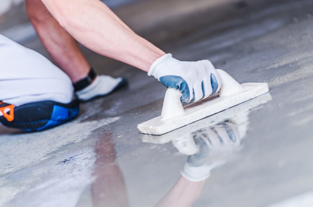
[[[104,56],[148,71],[165,53],[135,34],[99,0],[42,0],[76,40]]]

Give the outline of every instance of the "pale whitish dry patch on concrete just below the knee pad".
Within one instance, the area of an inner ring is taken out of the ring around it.
[[[118,120],[119,117],[82,122],[76,119],[43,132],[0,135],[0,176],[16,172],[49,158],[60,147],[80,142],[92,131]]]

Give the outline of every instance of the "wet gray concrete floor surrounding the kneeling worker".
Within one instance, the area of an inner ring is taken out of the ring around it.
[[[114,10],[178,59],[209,59],[240,83],[269,83],[271,101],[208,119],[249,110],[239,152],[212,170],[193,206],[270,206],[302,194],[303,206],[312,206],[313,1],[151,0]],[[28,24],[16,11],[23,5],[1,17],[0,33]],[[46,55],[30,30],[18,38]],[[179,178],[187,156],[171,142],[146,142],[136,129],[160,114],[166,89],[144,72],[84,51],[99,73],[123,75],[129,87],[81,104],[79,118],[54,129],[0,126],[0,206],[153,206]]]

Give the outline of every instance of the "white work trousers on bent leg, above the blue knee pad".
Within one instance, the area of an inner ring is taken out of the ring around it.
[[[19,106],[35,101],[69,103],[69,77],[43,55],[0,34],[0,101]]]

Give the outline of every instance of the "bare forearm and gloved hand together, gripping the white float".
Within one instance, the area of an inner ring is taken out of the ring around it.
[[[89,49],[153,75],[182,92],[182,102],[219,91],[222,80],[209,60],[179,61],[127,27],[99,0],[41,0],[54,18]]]

